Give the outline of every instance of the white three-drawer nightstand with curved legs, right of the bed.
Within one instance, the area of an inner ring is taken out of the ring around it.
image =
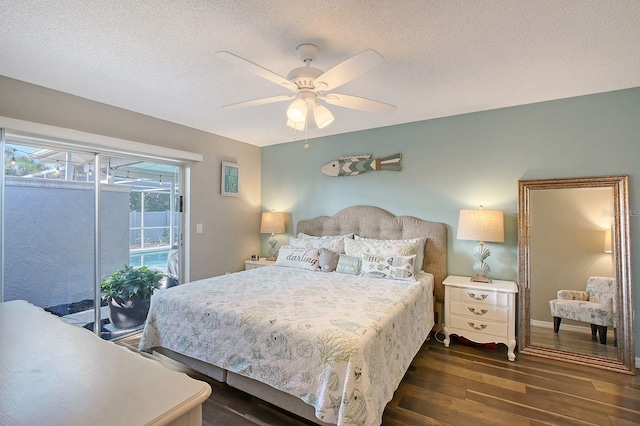
[[[469,277],[450,275],[444,285],[444,345],[457,334],[476,343],[504,343],[514,361],[516,347],[516,294],[513,281],[476,283]]]

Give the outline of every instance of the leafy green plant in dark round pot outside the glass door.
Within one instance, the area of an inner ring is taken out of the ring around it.
[[[134,328],[143,324],[149,313],[154,290],[160,288],[162,272],[146,266],[124,268],[100,283],[102,298],[109,303],[109,320],[116,328]]]

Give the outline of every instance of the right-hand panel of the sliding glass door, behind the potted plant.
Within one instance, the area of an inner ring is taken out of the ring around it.
[[[161,287],[177,284],[181,213],[176,199],[180,199],[180,167],[121,156],[105,156],[101,164],[106,173],[100,186],[103,277],[127,266],[146,267],[162,273]],[[127,335],[143,327],[140,320],[146,314],[138,315],[138,307],[148,309],[149,301],[140,297],[129,306],[123,299],[107,300],[103,308],[106,316],[103,315],[101,333],[105,338]]]

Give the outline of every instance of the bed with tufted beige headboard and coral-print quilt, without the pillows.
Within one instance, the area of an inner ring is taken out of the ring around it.
[[[421,238],[424,272],[406,281],[274,266],[173,287],[154,294],[140,349],[318,424],[378,425],[434,325],[446,227],[355,206],[296,231]]]

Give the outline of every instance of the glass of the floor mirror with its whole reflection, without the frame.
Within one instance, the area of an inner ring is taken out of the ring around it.
[[[612,208],[611,188],[531,194],[531,344],[617,359]]]

